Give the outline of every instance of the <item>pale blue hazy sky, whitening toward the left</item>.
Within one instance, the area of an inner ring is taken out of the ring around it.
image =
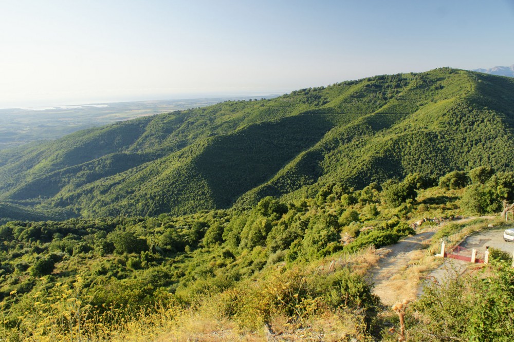
[[[514,0],[0,0],[0,108],[514,64]]]

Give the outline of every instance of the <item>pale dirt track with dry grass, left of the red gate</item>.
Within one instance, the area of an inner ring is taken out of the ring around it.
[[[383,247],[377,253],[383,257],[371,270],[371,281],[375,284],[373,293],[378,295],[386,305],[394,305],[403,299],[413,300],[417,296],[417,281],[401,278],[401,270],[408,267],[409,261],[427,247],[430,238],[437,231],[429,231],[408,236],[394,245]]]

